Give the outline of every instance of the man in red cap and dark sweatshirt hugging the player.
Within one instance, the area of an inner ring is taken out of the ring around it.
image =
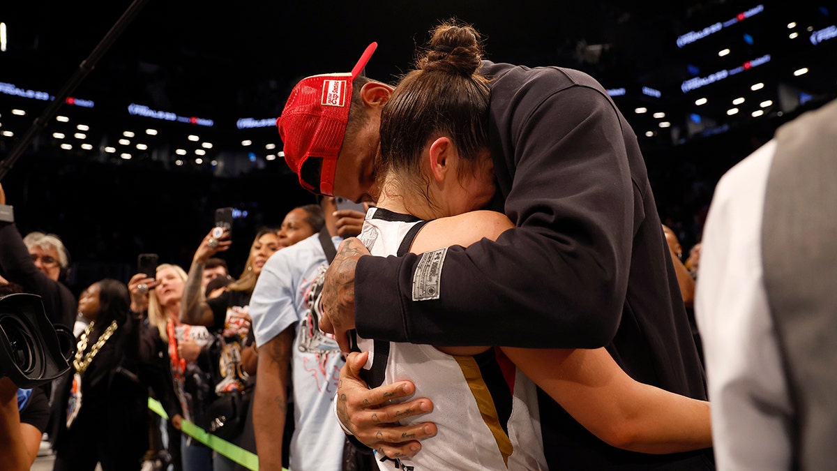
[[[285,160],[306,189],[355,200],[375,191],[377,127],[392,89],[359,75],[371,52],[351,74],[300,81],[277,121]],[[480,71],[491,79],[494,209],[516,228],[496,242],[449,247],[444,261],[419,270],[420,255],[367,256],[347,239],[326,273],[321,328],[344,350],[349,329],[415,344],[606,346],[634,379],[705,399],[644,161],[614,102],[577,70],[484,61]],[[336,399],[347,432],[390,457],[418,453],[434,425],[397,420],[429,411],[432,398],[388,406],[413,386],[367,391],[359,365],[349,366],[351,356]],[[550,468],[712,468],[711,451],[610,447],[548,396],[540,402]]]

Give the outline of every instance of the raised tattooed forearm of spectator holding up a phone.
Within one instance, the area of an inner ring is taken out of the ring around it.
[[[189,276],[186,285],[183,287],[183,297],[180,300],[180,322],[191,325],[212,326],[215,322],[212,308],[203,296],[203,268],[209,257],[219,251],[226,251],[233,243],[229,241],[229,231],[224,231],[217,240],[213,238],[212,230],[203,237],[201,245],[195,251],[192,259],[192,267],[189,267]],[[210,241],[216,241],[215,246],[210,246]]]

